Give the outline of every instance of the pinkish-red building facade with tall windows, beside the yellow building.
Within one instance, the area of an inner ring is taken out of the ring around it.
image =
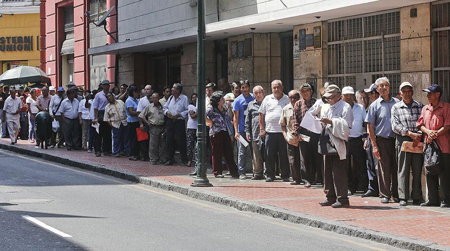
[[[116,6],[116,0],[41,0],[41,69],[54,86],[73,81],[85,89],[97,89],[104,79],[112,85],[117,82],[115,55],[87,54],[89,46],[114,43],[96,24],[113,8],[106,26],[116,37]]]

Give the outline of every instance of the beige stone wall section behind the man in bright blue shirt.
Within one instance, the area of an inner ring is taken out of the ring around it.
[[[252,56],[232,58],[231,42],[252,38]],[[247,33],[228,38],[228,81],[246,78],[252,86],[261,85],[266,93],[270,83],[280,79],[280,36],[278,33]]]

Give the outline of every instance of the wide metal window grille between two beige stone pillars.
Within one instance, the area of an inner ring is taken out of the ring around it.
[[[391,10],[328,22],[328,80],[367,88],[387,76],[391,93],[400,85],[400,12]]]

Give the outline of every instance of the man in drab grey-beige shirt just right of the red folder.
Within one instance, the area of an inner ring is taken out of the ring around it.
[[[150,133],[150,147],[148,155],[150,163],[158,164],[160,161],[166,160],[166,128],[164,126],[164,111],[160,103],[160,94],[154,92],[151,95],[152,103],[149,104],[139,114],[139,124],[145,131],[144,125],[147,125]]]

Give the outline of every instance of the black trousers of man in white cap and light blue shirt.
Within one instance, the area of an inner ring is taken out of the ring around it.
[[[364,190],[366,192],[369,178],[367,177],[366,153],[364,152],[363,137],[348,139],[348,187],[354,193]]]

